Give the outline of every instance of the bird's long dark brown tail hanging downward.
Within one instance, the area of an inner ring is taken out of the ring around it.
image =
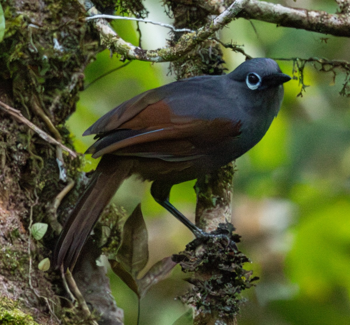
[[[123,181],[130,176],[133,162],[105,155],[99,162],[84,194],[66,221],[54,252],[54,266],[73,269],[87,236],[105,206]]]

